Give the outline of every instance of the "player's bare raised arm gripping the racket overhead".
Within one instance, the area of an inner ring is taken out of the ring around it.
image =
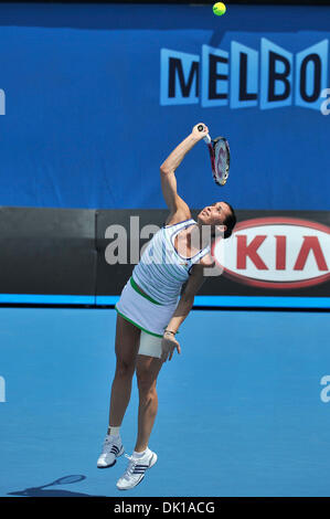
[[[163,161],[160,167],[160,179],[161,179],[161,189],[163,193],[164,201],[170,210],[167,224],[173,224],[182,220],[188,220],[191,218],[190,209],[179,197],[177,191],[177,178],[175,170],[182,162],[183,158],[190,151],[196,142],[205,137],[209,133],[209,129],[203,125],[204,129],[200,131],[195,125],[192,129],[192,133],[180,142],[179,146],[169,155],[169,157]]]

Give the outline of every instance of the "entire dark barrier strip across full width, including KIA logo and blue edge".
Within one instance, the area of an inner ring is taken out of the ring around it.
[[[114,306],[168,214],[1,208],[0,304]],[[232,236],[213,242],[195,307],[330,308],[330,212],[236,215]]]

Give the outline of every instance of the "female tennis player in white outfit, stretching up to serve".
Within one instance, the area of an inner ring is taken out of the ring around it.
[[[158,409],[157,378],[162,364],[172,359],[174,350],[181,353],[175,336],[204,280],[204,268],[214,265],[210,252],[216,229],[220,226],[224,237],[228,237],[236,223],[234,210],[226,202],[207,205],[194,221],[189,206],[177,192],[177,168],[188,151],[209,133],[205,125],[202,131],[198,126],[160,167],[162,193],[170,213],[166,225],[147,245],[116,305],[117,363],[111,388],[109,427],[97,466],[110,467],[124,453],[120,425],[136,372],[139,391],[138,435],[132,455],[126,455],[129,459],[127,469],[117,481],[120,490],[138,485],[146,470],[157,462],[157,454],[148,447]],[[202,232],[207,226],[211,232]]]

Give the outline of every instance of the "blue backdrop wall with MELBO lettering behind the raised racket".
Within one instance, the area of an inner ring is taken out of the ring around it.
[[[0,204],[162,208],[159,166],[204,121],[230,140],[231,179],[214,186],[200,144],[178,170],[191,206],[329,210],[329,19],[320,7],[217,18],[210,6],[1,4]]]

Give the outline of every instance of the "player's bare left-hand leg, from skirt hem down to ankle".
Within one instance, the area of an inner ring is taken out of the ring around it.
[[[109,426],[121,425],[131,393],[131,380],[136,369],[140,330],[121,316],[116,326],[116,372],[111,388]]]

